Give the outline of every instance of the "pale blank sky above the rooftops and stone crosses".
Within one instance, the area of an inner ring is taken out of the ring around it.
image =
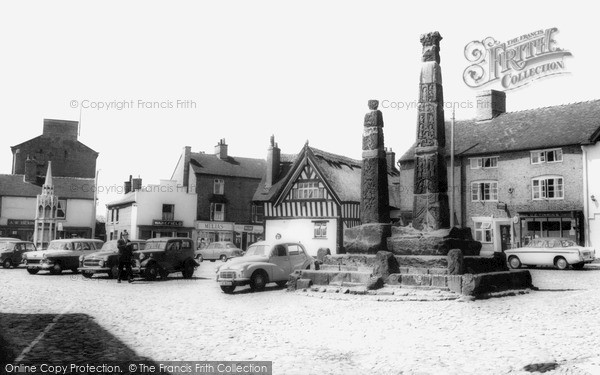
[[[487,37],[557,28],[572,53],[568,74],[507,91],[507,111],[600,98],[594,24],[579,1],[2,2],[0,173],[44,118],[81,119],[79,140],[99,152],[102,213],[129,175],[170,179],[185,146],[212,153],[222,138],[232,156],[266,158],[274,135],[282,153],[309,141],[360,159],[369,99],[399,158],[417,110],[392,103],[418,100],[421,34],[443,37],[444,99],[467,107],[460,120],[474,117],[478,91],[503,89],[463,80],[465,47]]]

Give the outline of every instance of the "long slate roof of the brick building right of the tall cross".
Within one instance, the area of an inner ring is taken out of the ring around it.
[[[446,148],[450,146],[446,122]],[[456,121],[455,155],[486,155],[595,142],[600,128],[600,100],[508,112],[489,121]],[[413,144],[400,161],[414,159]],[[449,152],[446,151],[446,155]]]

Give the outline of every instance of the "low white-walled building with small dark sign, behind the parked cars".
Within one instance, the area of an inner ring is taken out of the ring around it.
[[[131,238],[192,237],[196,195],[177,181],[161,180],[142,186],[141,178],[125,181],[123,196],[106,205],[107,240],[119,239],[127,230]]]

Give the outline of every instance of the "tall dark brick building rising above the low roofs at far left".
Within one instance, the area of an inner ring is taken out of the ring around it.
[[[78,138],[79,123],[44,119],[42,135],[12,146],[12,174],[25,173],[25,161],[36,161],[36,175],[44,176],[48,161],[56,177],[94,178],[98,153]]]

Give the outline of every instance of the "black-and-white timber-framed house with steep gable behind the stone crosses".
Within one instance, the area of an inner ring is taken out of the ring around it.
[[[399,172],[387,152],[392,212],[398,207]],[[265,240],[298,241],[310,255],[319,248],[343,252],[344,229],[360,225],[362,161],[310,147],[281,154],[271,137],[267,165],[254,194],[264,213]]]

